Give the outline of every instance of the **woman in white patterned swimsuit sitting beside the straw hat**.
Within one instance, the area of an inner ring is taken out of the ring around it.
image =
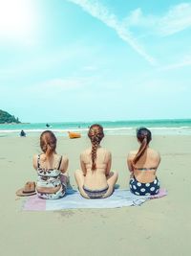
[[[40,135],[42,153],[33,156],[33,167],[37,171],[36,193],[39,198],[62,198],[68,179],[68,158],[56,153],[56,138],[51,130]]]

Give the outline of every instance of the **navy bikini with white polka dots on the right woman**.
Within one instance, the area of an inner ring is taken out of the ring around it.
[[[156,170],[156,168],[135,168],[138,171]],[[159,193],[159,179],[156,177],[154,181],[148,183],[138,182],[136,177],[130,179],[130,191],[138,196],[150,196]]]

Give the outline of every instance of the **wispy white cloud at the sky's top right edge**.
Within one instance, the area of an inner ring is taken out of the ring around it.
[[[146,29],[146,33],[166,36],[179,33],[191,27],[191,4],[182,3],[171,7],[163,15],[144,15],[141,9],[137,9],[124,19],[130,27]]]

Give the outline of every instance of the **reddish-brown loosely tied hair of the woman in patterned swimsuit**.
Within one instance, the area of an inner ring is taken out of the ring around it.
[[[47,157],[55,151],[56,138],[51,130],[45,130],[40,135],[40,148],[46,154]]]

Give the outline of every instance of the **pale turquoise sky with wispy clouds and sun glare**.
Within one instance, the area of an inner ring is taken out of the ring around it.
[[[0,0],[0,109],[22,122],[191,118],[191,1]]]

